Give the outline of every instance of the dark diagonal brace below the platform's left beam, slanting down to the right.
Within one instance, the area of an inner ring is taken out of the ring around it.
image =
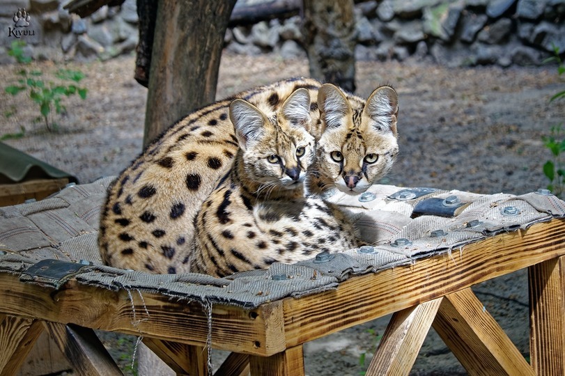
[[[79,375],[122,375],[93,329],[59,322],[43,323]]]

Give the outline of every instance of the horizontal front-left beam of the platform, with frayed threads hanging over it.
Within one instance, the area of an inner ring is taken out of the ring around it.
[[[120,331],[189,345],[206,345],[208,313],[197,302],[140,292],[111,291],[70,280],[60,290],[22,283],[0,273],[1,313]],[[281,301],[249,311],[214,305],[212,347],[268,356],[285,350]]]

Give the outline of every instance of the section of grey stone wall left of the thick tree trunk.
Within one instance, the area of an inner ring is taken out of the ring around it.
[[[2,1],[0,63],[12,61],[6,47],[13,40],[26,42],[26,53],[34,58],[54,61],[111,58],[130,53],[137,45],[135,0],[126,0],[118,7],[104,6],[85,19],[63,9],[68,0]],[[28,26],[22,22],[26,19],[24,9]]]

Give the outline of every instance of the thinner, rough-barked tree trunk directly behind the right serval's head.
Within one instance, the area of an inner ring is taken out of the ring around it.
[[[303,34],[311,77],[355,91],[353,0],[304,0]]]

